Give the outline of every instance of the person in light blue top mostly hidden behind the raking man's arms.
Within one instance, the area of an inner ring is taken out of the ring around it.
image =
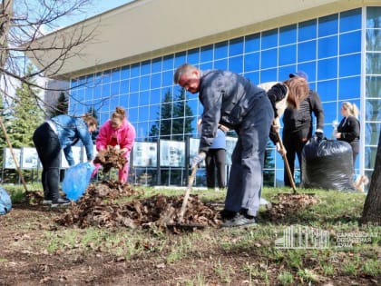
[[[202,120],[200,119],[198,122],[199,128],[201,123]],[[213,143],[210,145],[209,152],[205,158],[207,187],[209,189],[214,189],[216,187],[216,176],[218,188],[221,190],[226,187],[226,133],[228,131],[229,128],[219,124],[216,138],[214,138]]]

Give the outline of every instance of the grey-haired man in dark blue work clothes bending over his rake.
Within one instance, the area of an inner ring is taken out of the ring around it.
[[[220,70],[201,72],[190,64],[178,67],[173,79],[175,84],[180,84],[190,93],[199,93],[204,107],[199,153],[191,161],[192,168],[205,159],[219,124],[238,134],[238,142],[231,155],[221,226],[256,224],[264,154],[274,119],[268,95],[239,74]],[[292,97],[289,96],[288,101]]]

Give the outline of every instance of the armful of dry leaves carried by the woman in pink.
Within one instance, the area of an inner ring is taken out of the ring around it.
[[[121,169],[122,166],[127,163],[127,159],[123,156],[123,153],[125,153],[123,149],[107,146],[107,149],[97,153],[93,162],[103,165],[103,173],[109,172],[111,168]]]

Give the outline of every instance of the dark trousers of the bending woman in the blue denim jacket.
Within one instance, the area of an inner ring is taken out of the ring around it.
[[[34,131],[33,142],[43,165],[41,182],[44,188],[44,199],[56,201],[60,197],[58,184],[61,145],[58,136],[48,123],[43,123]]]

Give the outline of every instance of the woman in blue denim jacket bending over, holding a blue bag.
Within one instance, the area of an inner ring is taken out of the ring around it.
[[[96,127],[96,119],[88,114],[81,118],[63,114],[45,121],[34,131],[34,146],[43,165],[44,203],[51,203],[52,207],[70,203],[59,193],[61,149],[64,149],[69,165],[73,166],[72,145],[81,140],[86,150],[87,160],[92,162],[91,133],[96,130]]]

